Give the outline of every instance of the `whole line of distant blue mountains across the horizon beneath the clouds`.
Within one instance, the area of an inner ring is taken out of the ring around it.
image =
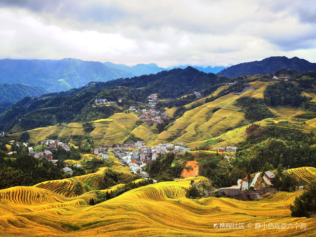
[[[85,86],[90,81],[106,82],[114,79],[133,78],[142,75],[157,74],[175,68],[185,69],[189,65],[160,68],[156,64],[137,64],[127,66],[111,62],[101,63],[65,58],[61,60],[0,60],[1,83],[23,83],[43,86],[48,92],[67,91]],[[241,63],[229,68],[192,66],[204,73],[218,76],[238,77],[242,75],[269,74],[280,69],[293,69],[298,72],[316,71],[316,63],[310,63],[297,57],[270,57],[262,61]],[[46,91],[45,91],[46,93]],[[11,100],[11,102],[14,102]]]

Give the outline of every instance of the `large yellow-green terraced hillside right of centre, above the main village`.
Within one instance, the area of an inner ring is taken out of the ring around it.
[[[244,140],[243,132],[245,127],[239,127],[233,132],[229,131],[240,124],[243,121],[247,121],[244,118],[244,114],[240,112],[241,108],[234,106],[234,102],[243,96],[250,96],[255,98],[263,98],[263,92],[269,84],[274,84],[276,81],[254,81],[249,84],[254,86],[251,90],[243,93],[242,95],[228,94],[222,96],[212,102],[208,102],[199,106],[193,110],[187,111],[181,118],[178,118],[173,122],[173,125],[156,137],[156,139],[150,143],[150,145],[157,145],[165,142],[183,142],[185,146],[192,149],[199,147],[206,140],[229,140],[224,142],[224,145],[233,145],[239,141]],[[213,95],[218,94],[221,90],[228,86],[219,87]],[[205,98],[202,98],[205,101]],[[204,102],[201,101],[201,102]],[[191,103],[192,104],[192,103]],[[189,108],[191,104],[185,107]],[[220,108],[215,113],[212,112],[214,108]],[[284,115],[283,117],[291,117],[297,112],[297,108],[290,108],[281,111],[276,108],[279,113]],[[277,114],[277,112],[274,112]],[[286,115],[285,115],[286,114]],[[228,131],[228,132],[227,132]]]

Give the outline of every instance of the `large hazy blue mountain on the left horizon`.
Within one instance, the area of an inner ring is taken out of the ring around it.
[[[133,74],[107,67],[101,62],[65,58],[62,60],[0,60],[4,83],[44,86],[48,91],[66,91],[90,81],[133,77]]]

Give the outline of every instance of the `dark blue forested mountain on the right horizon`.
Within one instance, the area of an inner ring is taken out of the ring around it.
[[[292,69],[297,72],[316,71],[316,63],[310,63],[298,57],[269,57],[261,61],[240,63],[222,70],[217,75],[236,78],[242,75],[271,74],[281,69]]]

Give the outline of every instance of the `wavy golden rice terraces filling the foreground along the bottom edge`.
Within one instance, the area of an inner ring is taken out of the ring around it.
[[[156,183],[131,190],[94,206],[84,203],[92,193],[69,199],[57,197],[50,191],[34,187],[2,190],[1,198],[3,194],[7,196],[5,202],[2,199],[0,202],[0,212],[3,213],[0,215],[1,236],[312,237],[316,235],[315,218],[290,216],[289,205],[293,203],[299,192],[280,192],[271,198],[259,201],[239,201],[223,197],[187,199],[186,190],[190,187],[191,179],[196,183],[207,181],[203,177],[194,177]],[[16,192],[14,197],[12,191]],[[46,199],[37,199],[38,195],[45,196]],[[13,202],[10,203],[11,198]],[[227,223],[230,223],[230,226],[232,223],[237,223],[238,228],[223,229],[220,228],[220,223],[224,223],[226,227],[228,227]],[[277,223],[285,223],[286,229],[268,228],[270,223],[273,226]],[[295,223],[299,227],[302,223],[306,224],[306,229],[296,229],[295,226],[292,229],[289,226]],[[214,224],[218,225],[217,229],[214,228]]]

